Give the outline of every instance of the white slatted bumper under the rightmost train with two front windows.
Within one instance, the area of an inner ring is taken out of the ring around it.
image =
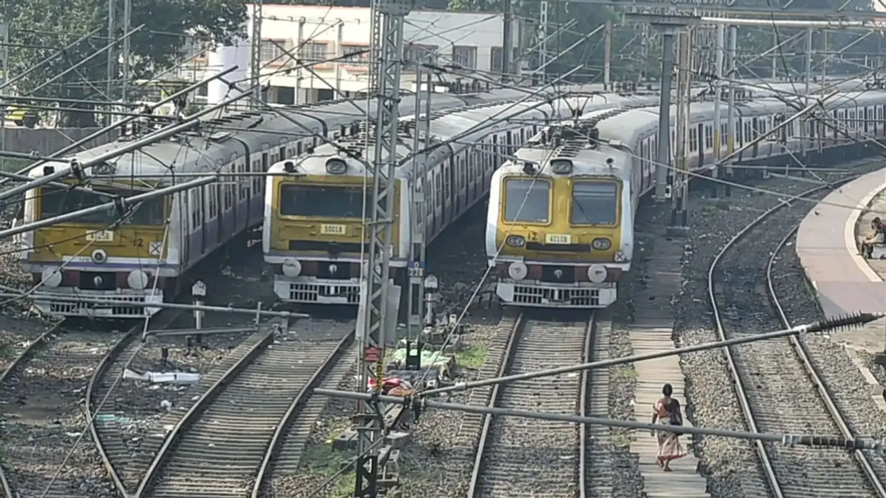
[[[548,284],[504,280],[495,286],[502,304],[525,307],[608,307],[618,298],[615,282]]]

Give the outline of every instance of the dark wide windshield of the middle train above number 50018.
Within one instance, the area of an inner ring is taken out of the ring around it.
[[[371,214],[372,199],[366,196],[366,213]],[[285,216],[320,216],[324,218],[362,218],[362,185],[300,185],[285,183],[280,187],[280,214]]]

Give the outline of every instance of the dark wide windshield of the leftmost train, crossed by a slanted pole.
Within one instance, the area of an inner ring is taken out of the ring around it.
[[[101,191],[120,197],[130,197],[139,193],[125,189],[106,189]],[[78,209],[99,206],[110,202],[112,198],[97,193],[82,190],[66,190],[52,187],[44,187],[38,194],[40,196],[40,217],[50,218],[58,214],[66,214]],[[134,211],[122,222],[123,225],[162,225],[166,223],[163,215],[163,198],[152,198],[137,204]],[[120,220],[120,213],[113,206],[92,214],[86,214],[69,223],[98,223],[112,225]]]

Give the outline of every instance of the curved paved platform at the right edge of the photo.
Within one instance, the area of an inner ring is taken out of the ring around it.
[[[865,260],[858,246],[874,211],[886,211],[886,169],[831,192],[800,224],[797,256],[827,316],[886,312],[886,260]]]

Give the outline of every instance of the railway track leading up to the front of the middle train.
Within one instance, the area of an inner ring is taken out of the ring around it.
[[[313,321],[297,338],[273,329],[247,338],[240,354],[229,355],[236,360],[169,432],[136,495],[255,497],[275,469],[286,471],[293,460],[297,465],[305,425],[309,433],[323,410],[309,393],[341,371],[336,367],[346,363],[339,360],[354,338],[354,322],[327,325],[337,339],[328,333],[326,340],[312,338],[320,323]],[[296,416],[304,420],[293,423]]]

